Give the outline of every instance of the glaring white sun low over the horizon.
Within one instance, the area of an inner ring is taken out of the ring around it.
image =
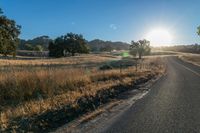
[[[169,46],[172,43],[172,35],[164,28],[153,29],[145,39],[149,40],[152,46]]]

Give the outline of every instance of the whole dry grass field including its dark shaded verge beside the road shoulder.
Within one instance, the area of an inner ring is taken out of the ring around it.
[[[99,70],[99,62],[111,59],[117,58],[88,55],[0,61],[0,65],[7,65],[0,71],[0,131],[49,131],[164,73],[160,58],[145,59],[137,67]],[[48,67],[30,67],[44,63]],[[87,68],[91,63],[96,66]],[[60,68],[52,64],[85,66]]]

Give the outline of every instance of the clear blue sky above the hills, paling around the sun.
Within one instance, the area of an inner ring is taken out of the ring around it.
[[[125,41],[164,27],[173,44],[200,42],[200,0],[0,0],[5,15],[22,26],[21,38],[52,38],[68,32]]]

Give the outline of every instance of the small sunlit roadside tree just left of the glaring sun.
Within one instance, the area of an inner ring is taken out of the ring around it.
[[[151,52],[150,41],[147,40],[139,40],[137,42],[132,41],[130,45],[130,54],[136,56],[138,54],[139,59],[142,58],[143,55],[148,55]]]

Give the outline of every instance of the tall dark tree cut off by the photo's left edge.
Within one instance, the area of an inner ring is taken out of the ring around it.
[[[0,9],[0,54],[16,54],[21,27],[8,19]]]

